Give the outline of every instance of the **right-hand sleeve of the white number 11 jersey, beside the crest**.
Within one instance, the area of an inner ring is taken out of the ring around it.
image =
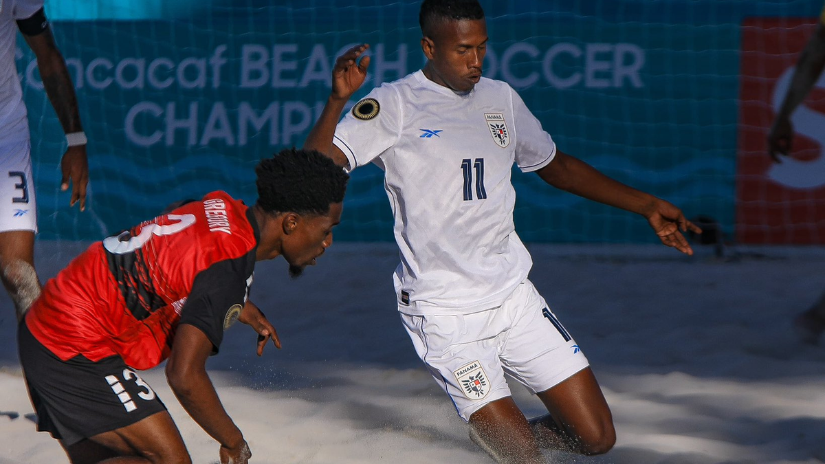
[[[527,109],[519,94],[510,88],[516,131],[516,164],[522,173],[547,166],[556,155],[553,138],[541,128],[541,123]]]

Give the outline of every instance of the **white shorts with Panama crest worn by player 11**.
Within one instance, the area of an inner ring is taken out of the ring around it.
[[[576,341],[526,280],[501,306],[468,315],[407,315],[401,320],[459,415],[510,396],[504,373],[532,393],[589,366]]]

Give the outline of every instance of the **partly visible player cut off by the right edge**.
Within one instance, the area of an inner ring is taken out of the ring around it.
[[[819,16],[819,24],[813,36],[808,40],[799,61],[794,69],[794,77],[790,81],[790,88],[782,100],[779,113],[768,134],[768,154],[775,163],[781,163],[780,154],[788,156],[794,140],[794,125],[790,122],[790,115],[804,101],[805,96],[817,82],[819,74],[825,68],[825,6]],[[804,311],[794,320],[794,327],[799,336],[807,343],[818,343],[819,337],[825,331],[825,293],[819,296],[816,303]]]

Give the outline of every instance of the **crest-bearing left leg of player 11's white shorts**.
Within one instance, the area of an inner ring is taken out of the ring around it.
[[[401,314],[418,357],[464,420],[510,396],[497,351],[506,323],[494,316],[494,310],[472,315]]]

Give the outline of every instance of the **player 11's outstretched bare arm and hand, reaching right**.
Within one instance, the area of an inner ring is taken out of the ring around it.
[[[557,150],[555,158],[536,171],[544,182],[565,192],[643,215],[662,244],[693,254],[682,232],[701,229],[671,203],[607,177],[580,159]]]

